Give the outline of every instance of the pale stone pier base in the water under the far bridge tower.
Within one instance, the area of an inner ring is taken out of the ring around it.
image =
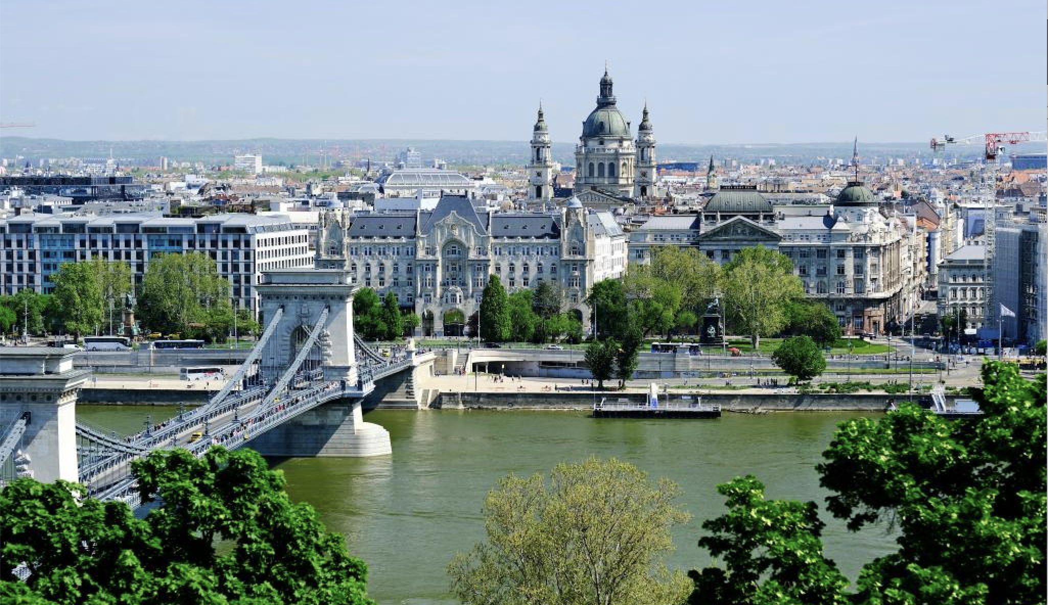
[[[337,399],[303,412],[249,447],[268,456],[364,457],[393,451],[389,431],[364,422],[359,399]]]

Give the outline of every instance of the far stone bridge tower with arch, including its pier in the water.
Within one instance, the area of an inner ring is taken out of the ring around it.
[[[264,273],[257,286],[263,318],[283,309],[280,323],[259,358],[267,379],[286,368],[300,353],[300,344],[325,311],[319,338],[320,367],[326,381],[359,391],[361,398],[331,401],[259,435],[252,447],[279,456],[371,456],[392,451],[389,432],[364,422],[361,399],[373,389],[370,378],[359,376],[353,342],[353,294],[350,274],[342,269],[283,269]],[[310,354],[312,355],[312,354]],[[344,382],[343,382],[344,381]]]

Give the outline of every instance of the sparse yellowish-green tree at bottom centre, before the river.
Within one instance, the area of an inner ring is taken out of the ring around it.
[[[679,489],[614,458],[561,464],[549,481],[509,475],[484,501],[486,540],[447,566],[468,605],[676,604],[686,579],[663,562],[689,515]]]

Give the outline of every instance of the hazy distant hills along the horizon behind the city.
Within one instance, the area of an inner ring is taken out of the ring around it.
[[[0,137],[0,157],[14,160],[22,156],[32,165],[47,158],[108,158],[110,153],[119,160],[133,163],[155,162],[160,157],[174,161],[200,161],[205,164],[232,163],[233,156],[260,153],[267,164],[320,165],[327,152],[328,162],[337,159],[371,158],[392,161],[407,147],[417,149],[424,162],[440,158],[450,164],[525,164],[529,150],[527,141],[499,140],[424,140],[424,139],[278,139],[198,141],[74,141],[21,136]],[[1028,149],[1027,149],[1028,148]],[[1017,145],[1013,153],[1043,153],[1044,145]],[[940,152],[944,158],[976,158],[980,145],[949,148]],[[851,157],[852,144],[847,142],[764,143],[764,144],[679,144],[660,143],[661,161],[706,161],[713,155],[719,160],[733,158],[743,162],[774,159],[779,163],[808,163],[818,158]],[[927,142],[864,143],[859,141],[863,163],[882,163],[887,158],[931,158]],[[574,163],[574,143],[553,143],[553,157],[565,164]]]

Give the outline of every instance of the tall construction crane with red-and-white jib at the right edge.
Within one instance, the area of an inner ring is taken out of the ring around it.
[[[943,135],[942,138],[932,139],[932,150],[940,151],[949,144],[973,144],[983,142],[985,145],[983,153],[983,163],[979,171],[979,196],[983,198],[985,210],[983,215],[983,239],[986,240],[986,272],[983,277],[983,326],[992,326],[990,320],[997,319],[1000,323],[1001,308],[996,305],[997,291],[995,290],[994,259],[997,255],[997,170],[998,160],[1004,154],[1005,144],[1019,144],[1021,142],[1038,142],[1048,140],[1045,132],[989,132],[985,134],[974,134],[965,137],[953,137]],[[958,328],[960,330],[960,328]],[[998,334],[998,345],[1004,348],[1003,334]]]

